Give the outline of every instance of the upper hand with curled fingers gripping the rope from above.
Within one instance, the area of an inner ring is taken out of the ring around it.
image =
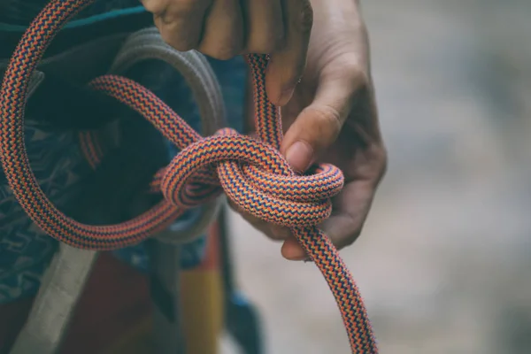
[[[313,12],[309,0],[142,0],[162,38],[176,50],[217,59],[270,54],[266,91],[287,104],[306,63]]]

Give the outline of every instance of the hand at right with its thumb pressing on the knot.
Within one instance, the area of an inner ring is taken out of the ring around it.
[[[281,152],[296,171],[303,172],[314,162],[342,169],[345,186],[332,200],[332,216],[320,226],[340,249],[358,238],[387,164],[366,27],[357,3],[312,1],[307,66],[293,98],[281,110],[283,125],[289,127]],[[273,240],[283,241],[284,258],[307,258],[288,227],[238,212]]]

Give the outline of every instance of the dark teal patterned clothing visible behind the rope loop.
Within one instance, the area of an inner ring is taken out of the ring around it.
[[[48,2],[49,0],[0,1],[0,75],[2,62],[11,55],[19,35]],[[48,51],[51,51],[50,55],[61,53],[81,42],[120,32],[132,33],[151,25],[150,14],[140,7],[138,0],[96,0],[95,4],[83,10],[65,27]],[[55,48],[53,44],[56,44]],[[209,58],[209,62],[218,76],[229,126],[242,131],[246,66],[242,58],[228,61]],[[148,62],[136,68],[129,77],[140,81],[160,96],[192,127],[200,127],[193,95],[179,73],[173,71],[168,74],[164,65]],[[142,135],[158,136],[149,125],[139,123],[138,129]],[[151,146],[149,139],[144,141],[148,151]],[[83,189],[83,176],[89,173],[89,166],[81,157],[75,132],[45,127],[38,117],[27,117],[26,145],[42,190],[52,203],[67,212],[68,205],[76,202],[72,200],[73,196]],[[171,147],[167,149],[168,157],[176,152]],[[193,217],[193,211],[183,216]],[[196,266],[203,256],[203,246],[204,238],[185,245],[181,266]],[[44,235],[27,218],[0,170],[0,304],[34,296],[57,247],[58,242]],[[117,250],[113,254],[140,270],[148,264],[142,244]]]

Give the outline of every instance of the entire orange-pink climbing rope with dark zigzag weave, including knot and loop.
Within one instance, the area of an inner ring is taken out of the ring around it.
[[[91,81],[93,89],[113,96],[149,119],[181,152],[151,183],[151,191],[162,192],[163,201],[135,219],[111,226],[84,225],[51,204],[35,179],[24,145],[27,87],[53,37],[68,19],[93,1],[51,1],[28,27],[4,76],[0,157],[13,194],[27,215],[47,234],[73,247],[115,250],[142,242],[169,227],[187,208],[225,192],[246,212],[291,227],[335,296],[352,353],[377,353],[358,287],[335,246],[316,227],[330,215],[330,197],[342,189],[342,172],[334,165],[322,164],[312,175],[299,176],[281,156],[280,112],[266,98],[266,56],[247,56],[255,88],[256,139],[232,129],[203,137],[134,81],[114,75]],[[96,166],[104,155],[96,133],[81,132],[80,142],[90,165]]]

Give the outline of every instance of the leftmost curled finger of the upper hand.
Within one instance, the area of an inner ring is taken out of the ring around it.
[[[201,42],[205,14],[212,0],[142,0],[152,12],[155,25],[166,43],[180,51],[192,50]]]

